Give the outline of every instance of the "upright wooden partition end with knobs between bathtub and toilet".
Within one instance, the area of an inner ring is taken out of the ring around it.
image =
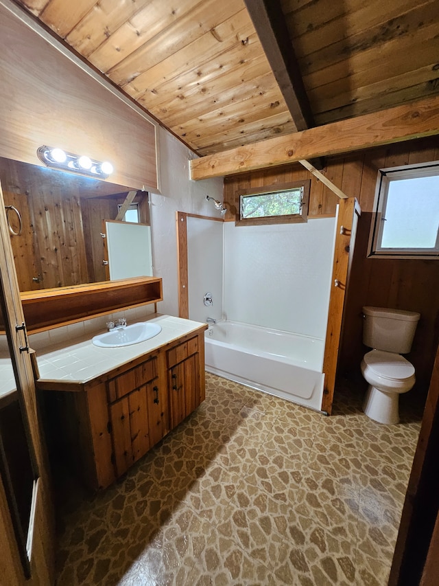
[[[327,335],[324,344],[324,389],[322,411],[331,415],[337,374],[338,350],[342,335],[344,302],[349,283],[349,269],[354,253],[358,217],[361,214],[353,197],[341,199],[337,214],[335,249],[329,298]]]

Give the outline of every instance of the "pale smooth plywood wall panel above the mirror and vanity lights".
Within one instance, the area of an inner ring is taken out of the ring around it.
[[[110,161],[111,181],[159,188],[157,125],[0,5],[0,157],[42,165],[39,146]]]

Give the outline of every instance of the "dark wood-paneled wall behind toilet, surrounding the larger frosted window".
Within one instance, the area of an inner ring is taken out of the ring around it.
[[[368,150],[361,157],[359,218],[351,284],[345,309],[340,372],[357,370],[365,347],[361,343],[364,305],[418,311],[420,321],[407,355],[416,369],[416,386],[423,401],[427,395],[439,343],[439,260],[366,258],[372,220],[377,170],[439,160],[437,139],[423,139]],[[413,397],[413,394],[412,394]]]

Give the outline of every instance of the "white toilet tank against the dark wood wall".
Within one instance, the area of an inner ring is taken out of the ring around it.
[[[396,354],[410,352],[419,313],[370,306],[364,307],[363,313],[363,343],[366,346]]]

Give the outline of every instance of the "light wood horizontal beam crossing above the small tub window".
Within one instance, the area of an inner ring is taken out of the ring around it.
[[[224,177],[439,134],[439,96],[190,161],[191,179]]]

